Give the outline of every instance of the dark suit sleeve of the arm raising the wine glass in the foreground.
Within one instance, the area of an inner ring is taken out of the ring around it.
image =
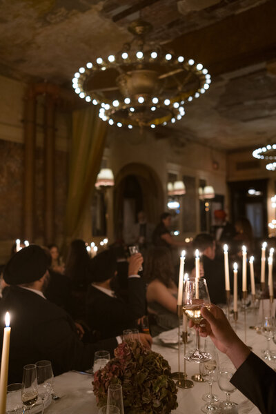
[[[276,373],[257,355],[248,355],[231,382],[262,414],[276,413]]]

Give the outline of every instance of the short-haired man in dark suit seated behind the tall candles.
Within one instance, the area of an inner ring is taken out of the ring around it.
[[[195,237],[193,246],[201,253],[203,262],[204,278],[206,279],[210,300],[213,304],[224,304],[225,277],[224,263],[215,259],[215,239],[208,233],[200,233]]]

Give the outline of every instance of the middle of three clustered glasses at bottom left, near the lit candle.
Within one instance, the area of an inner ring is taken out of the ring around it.
[[[37,366],[28,364],[23,366],[23,380],[21,388],[21,399],[26,410],[32,408],[37,402]]]

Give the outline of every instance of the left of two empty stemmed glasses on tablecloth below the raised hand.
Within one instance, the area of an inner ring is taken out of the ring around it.
[[[213,342],[205,341],[204,351],[208,352],[211,355],[211,359],[204,362],[204,368],[208,373],[208,384],[209,384],[209,392],[202,396],[202,400],[206,401],[204,407],[201,410],[204,413],[208,413],[208,411],[217,411],[217,407],[214,405],[214,402],[219,401],[219,397],[213,394],[213,383],[217,381],[217,371],[219,366],[219,357],[217,355],[217,351]]]

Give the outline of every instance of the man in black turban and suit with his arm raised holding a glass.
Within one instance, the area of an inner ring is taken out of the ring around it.
[[[91,260],[89,286],[86,297],[86,320],[101,339],[119,335],[124,329],[137,328],[137,319],[146,314],[146,288],[138,275],[143,262],[140,253],[129,259],[128,295],[123,299],[112,290],[117,260],[111,250],[99,253]]]

